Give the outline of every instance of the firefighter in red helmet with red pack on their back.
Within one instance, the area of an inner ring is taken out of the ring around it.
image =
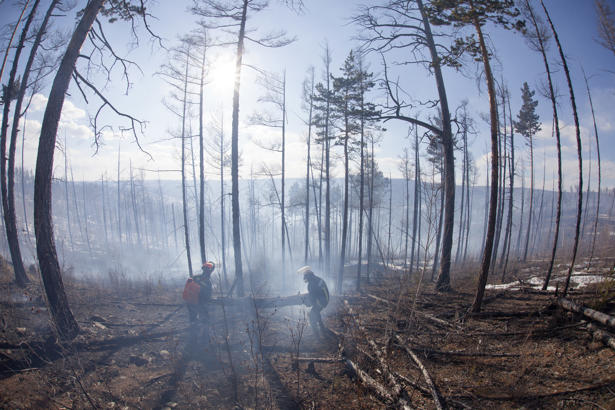
[[[197,317],[200,317],[205,332],[209,321],[209,302],[212,300],[213,286],[212,273],[215,269],[213,262],[205,262],[201,267],[202,274],[194,275],[186,282],[184,300],[188,306],[188,321],[190,322],[190,334],[196,336]]]

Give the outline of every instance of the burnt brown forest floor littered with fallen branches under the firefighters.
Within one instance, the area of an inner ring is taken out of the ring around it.
[[[568,299],[615,313],[612,264],[595,264],[589,273],[606,282],[574,289]],[[455,274],[452,293],[418,287],[404,272],[372,277],[362,293],[331,299],[324,342],[314,339],[300,306],[212,305],[213,326],[192,336],[178,288],[67,277],[82,334],[63,344],[36,278],[20,292],[4,269],[0,408],[386,409],[400,408],[402,397],[409,408],[434,409],[424,368],[444,409],[615,409],[613,350],[589,335],[590,319],[558,307],[553,291],[526,285],[544,262],[525,268],[515,268],[517,290],[486,291],[482,317],[464,317],[475,274]]]

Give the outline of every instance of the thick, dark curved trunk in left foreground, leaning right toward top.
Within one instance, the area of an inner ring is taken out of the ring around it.
[[[92,0],[85,7],[81,20],[74,30],[66,48],[54,83],[49,92],[47,108],[42,120],[39,137],[36,173],[34,176],[34,234],[36,235],[36,254],[41,268],[41,278],[45,286],[49,307],[58,332],[66,339],[73,339],[79,333],[79,325],[68,306],[62,271],[55,251],[54,227],[51,213],[51,179],[54,170],[55,138],[62,106],[71,80],[71,74],[79,57],[79,51],[103,6],[104,0]]]

